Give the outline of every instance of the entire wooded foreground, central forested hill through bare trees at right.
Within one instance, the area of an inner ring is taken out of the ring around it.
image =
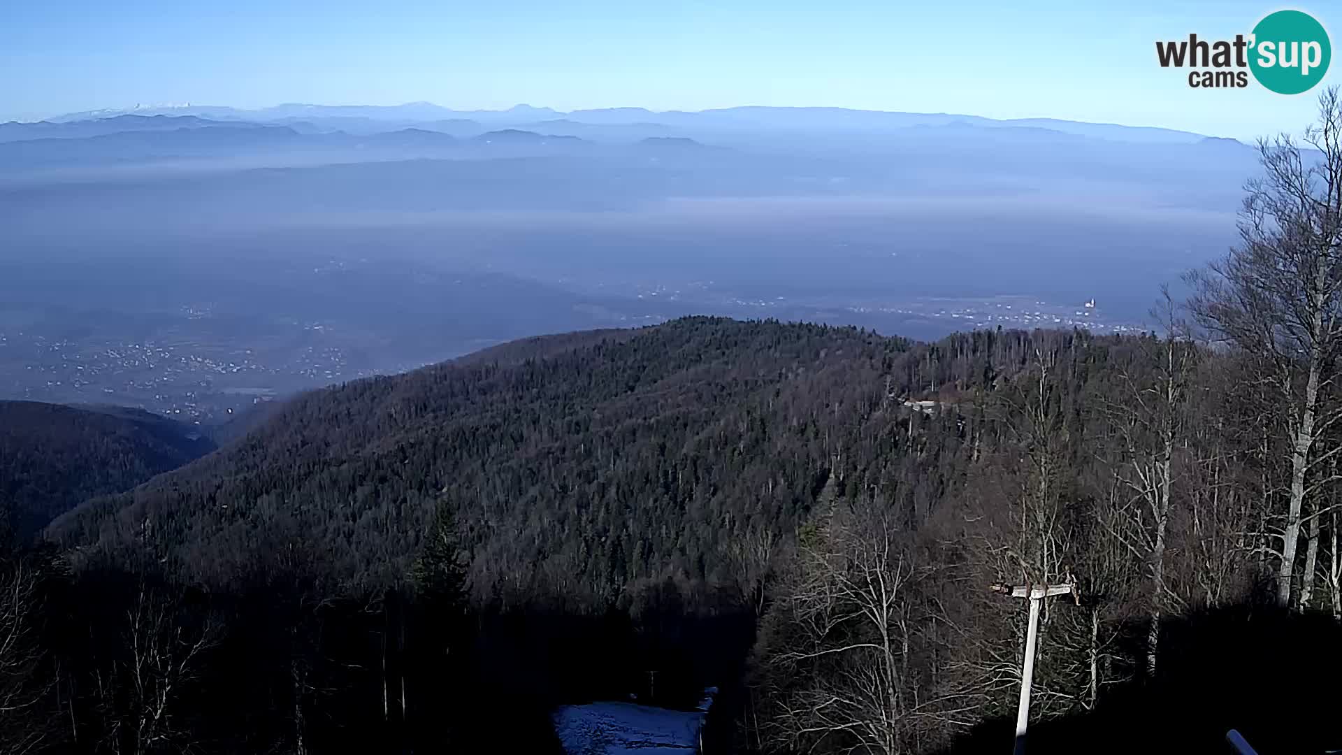
[[[0,572],[0,752],[546,752],[709,685],[706,752],[1001,751],[989,587],[1056,582],[1032,752],[1342,747],[1339,133],[1263,145],[1149,335],[533,339],[62,492]]]

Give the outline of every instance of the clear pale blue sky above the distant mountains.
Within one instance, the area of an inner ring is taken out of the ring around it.
[[[828,105],[1055,117],[1253,137],[1318,90],[1193,90],[1157,39],[1247,34],[1321,0],[5,0],[0,120],[134,103],[561,110]],[[1028,5],[1028,8],[1025,8]],[[1339,38],[1333,34],[1334,42]],[[1342,63],[1339,63],[1342,64]],[[1330,71],[1326,83],[1337,81]]]

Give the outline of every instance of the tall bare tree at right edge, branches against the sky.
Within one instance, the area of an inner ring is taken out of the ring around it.
[[[1264,175],[1247,184],[1240,243],[1221,262],[1190,275],[1198,321],[1247,352],[1284,414],[1290,458],[1287,510],[1280,521],[1276,601],[1295,587],[1302,527],[1325,515],[1314,506],[1325,470],[1342,447],[1318,439],[1342,418],[1335,363],[1342,347],[1342,101],[1330,87],[1303,144],[1282,134],[1259,142]],[[1317,543],[1317,540],[1315,540]]]

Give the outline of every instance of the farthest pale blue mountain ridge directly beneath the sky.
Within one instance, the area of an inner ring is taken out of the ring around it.
[[[525,125],[548,121],[562,121],[569,125],[592,126],[641,126],[641,128],[679,128],[679,129],[711,129],[711,130],[848,130],[848,132],[880,132],[887,129],[900,129],[910,126],[945,126],[951,124],[966,124],[980,128],[1039,128],[1052,132],[1078,134],[1095,138],[1107,138],[1130,142],[1166,142],[1190,144],[1204,138],[1204,134],[1181,132],[1174,129],[1161,129],[1150,126],[1125,126],[1117,124],[1088,124],[1080,121],[1063,121],[1055,118],[1015,118],[997,120],[981,116],[965,116],[950,113],[902,113],[883,110],[851,110],[844,107],[764,107],[742,106],[725,107],[701,112],[664,110],[655,112],[644,107],[604,107],[588,110],[560,112],[550,107],[534,107],[531,105],[515,105],[506,110],[454,110],[433,105],[431,102],[409,102],[405,105],[376,106],[376,105],[302,105],[286,103],[274,107],[246,110],[228,106],[137,106],[129,109],[85,110],[67,113],[42,121],[39,124],[23,124],[27,126],[39,125],[50,132],[47,136],[63,136],[62,125],[102,122],[117,117],[153,118],[158,116],[189,116],[212,121],[247,121],[258,124],[274,124],[286,121],[301,121],[318,124],[322,128],[350,130],[373,129],[388,124],[411,125],[432,121],[472,121],[491,126],[498,125]],[[149,122],[149,121],[145,121]],[[5,130],[13,130],[15,124],[0,126],[0,138],[5,137]],[[97,130],[98,126],[81,126],[71,132]],[[437,130],[437,129],[435,129]],[[91,136],[81,133],[79,136]],[[31,137],[28,137],[31,138]]]

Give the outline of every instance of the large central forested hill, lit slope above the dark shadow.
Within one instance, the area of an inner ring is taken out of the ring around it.
[[[898,485],[910,509],[938,500],[954,482],[939,457],[958,451],[905,453],[915,441],[900,399],[970,391],[1024,364],[1027,341],[976,333],[915,347],[718,318],[531,339],[307,394],[52,535],[138,548],[148,527],[162,556],[205,580],[313,543],[344,579],[384,583],[444,504],[475,584],[497,596],[600,603],[640,579],[723,582],[733,543],[790,535],[832,469],[854,489]]]

